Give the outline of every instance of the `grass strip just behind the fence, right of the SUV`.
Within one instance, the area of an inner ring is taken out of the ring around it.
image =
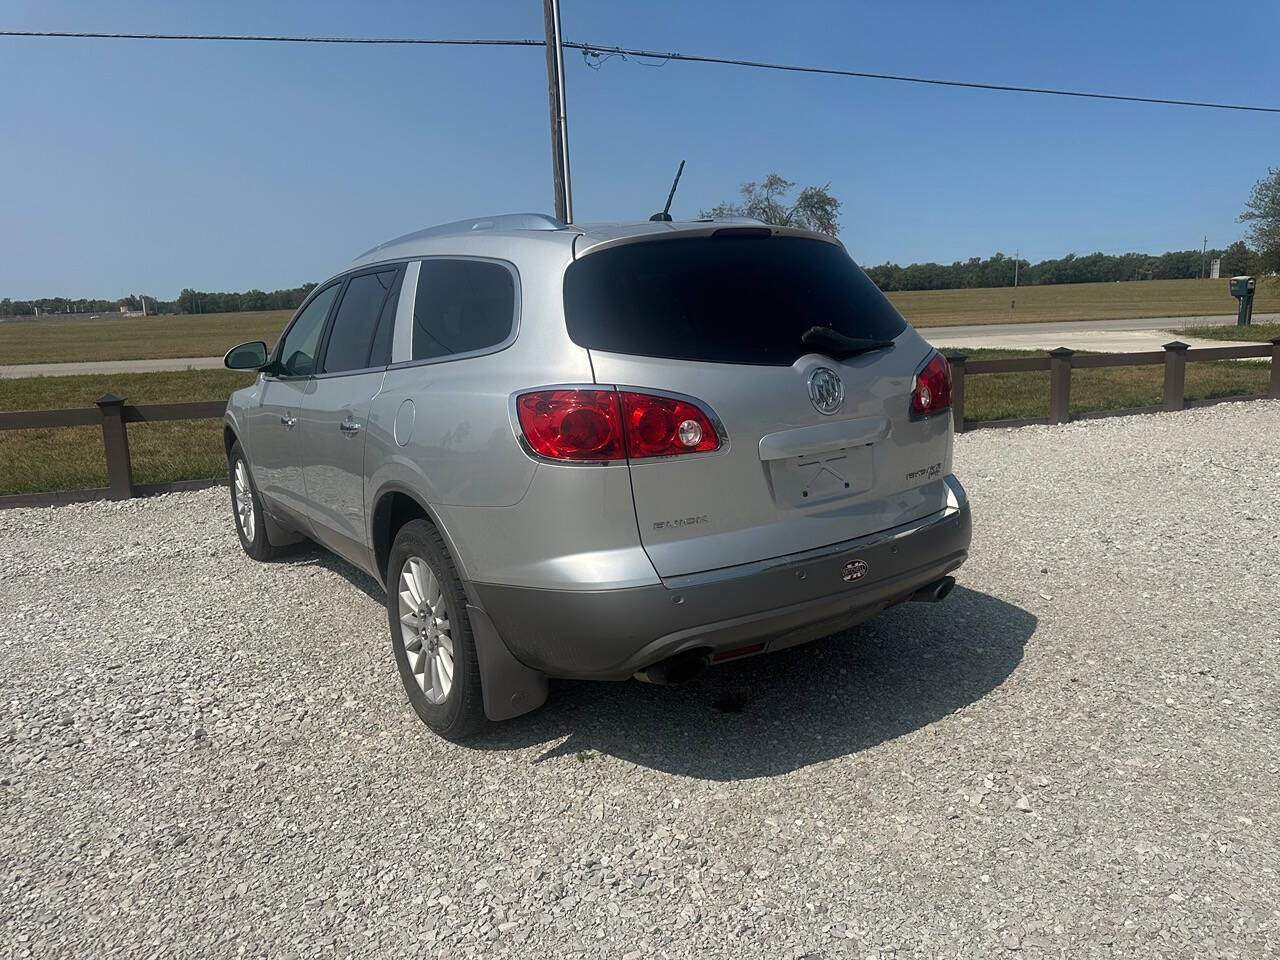
[[[943,349],[943,353],[946,351]],[[970,349],[973,360],[1044,356],[1041,351]],[[1187,365],[1187,399],[1251,397],[1266,393],[1267,364],[1231,360]],[[1071,371],[1071,413],[1151,407],[1164,396],[1165,367],[1121,366]],[[980,374],[965,378],[965,420],[1025,420],[1048,416],[1048,371]]]

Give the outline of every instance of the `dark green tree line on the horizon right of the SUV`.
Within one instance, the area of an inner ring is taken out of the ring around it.
[[[1226,250],[1175,250],[1167,253],[1068,253],[1037,264],[1004,253],[969,257],[954,264],[881,264],[865,268],[882,291],[947,291],[970,287],[1011,287],[1056,283],[1111,283],[1116,280],[1183,280],[1208,275],[1212,260],[1221,259],[1221,275],[1261,273],[1258,257],[1243,241]]]

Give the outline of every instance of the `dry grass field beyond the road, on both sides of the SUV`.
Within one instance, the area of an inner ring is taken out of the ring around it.
[[[1234,314],[1226,280],[1143,280],[1009,287],[970,291],[908,291],[890,300],[916,326],[954,324],[1111,320],[1147,316]],[[1016,300],[1018,308],[1010,310]],[[1280,311],[1280,284],[1258,287],[1254,311]],[[115,317],[104,315],[0,323],[0,364],[86,360],[214,357],[244,340],[275,342],[287,310],[198,316]]]

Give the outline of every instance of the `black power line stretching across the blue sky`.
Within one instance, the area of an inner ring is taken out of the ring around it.
[[[0,37],[56,37],[83,40],[187,40],[187,41],[238,41],[260,44],[366,44],[366,45],[408,45],[408,46],[526,46],[541,47],[541,40],[520,37],[495,37],[451,40],[442,37],[312,37],[288,35],[247,35],[247,33],[97,33],[70,31],[0,31]],[[1057,87],[1028,87],[1015,83],[982,83],[978,81],[940,79],[936,77],[911,77],[897,73],[872,73],[869,70],[845,70],[836,67],[805,67],[801,64],[771,63],[767,60],[744,60],[731,56],[710,56],[705,54],[663,52],[660,50],[637,50],[634,47],[609,46],[603,44],[577,44],[564,41],[567,50],[580,50],[588,58],[621,56],[644,58],[650,60],[684,60],[686,63],[718,64],[724,67],[745,67],[759,70],[781,70],[785,73],[809,73],[824,77],[850,77],[855,79],[878,79],[893,83],[920,83],[933,87],[956,87],[963,90],[986,90],[1005,93],[1034,93],[1039,96],[1076,97],[1083,100],[1110,100],[1125,104],[1157,104],[1161,106],[1194,106],[1206,110],[1243,110],[1247,113],[1280,114],[1280,106],[1257,106],[1252,104],[1220,104],[1210,100],[1179,100],[1175,97],[1144,97],[1126,93],[1100,93],[1083,90],[1061,90]]]

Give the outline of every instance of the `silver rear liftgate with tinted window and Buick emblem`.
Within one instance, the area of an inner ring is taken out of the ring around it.
[[[910,413],[931,348],[838,244],[722,228],[609,246],[568,268],[564,308],[596,383],[692,397],[724,428],[716,452],[631,462],[660,576],[799,553],[943,506],[950,420]],[[841,362],[801,343],[815,325],[892,343]]]

